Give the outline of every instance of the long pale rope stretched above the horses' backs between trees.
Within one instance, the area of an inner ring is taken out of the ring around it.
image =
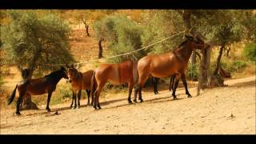
[[[125,54],[118,54],[118,55],[114,55],[114,56],[110,56],[110,57],[106,57],[106,58],[94,59],[94,60],[87,61],[87,62],[77,62],[77,63],[74,63],[74,65],[81,65],[81,64],[85,64],[85,63],[96,62],[96,61],[103,60],[103,59],[117,58],[117,57],[120,57],[120,56],[123,56],[123,55],[133,54],[133,53],[135,53],[135,52],[137,52],[139,50],[144,50],[144,49],[146,49],[146,48],[148,48],[150,46],[154,46],[155,44],[158,44],[160,42],[166,41],[169,38],[174,38],[175,36],[177,36],[179,34],[182,34],[182,33],[185,33],[185,30],[183,30],[182,32],[179,32],[178,34],[174,34],[174,35],[172,35],[170,37],[164,38],[164,39],[162,39],[162,40],[160,40],[158,42],[154,42],[154,43],[152,43],[152,44],[150,44],[148,46],[144,46],[144,47],[142,47],[142,48],[140,48],[138,50],[134,50],[134,51],[130,51],[130,52],[125,53]],[[47,66],[65,66],[66,64],[43,64],[43,65],[47,65]]]

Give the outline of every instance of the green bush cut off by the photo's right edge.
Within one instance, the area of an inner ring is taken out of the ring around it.
[[[243,55],[250,61],[256,62],[256,42],[247,44],[243,48]]]

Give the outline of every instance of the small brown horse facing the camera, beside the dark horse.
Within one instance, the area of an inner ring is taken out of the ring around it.
[[[68,66],[66,65],[67,69],[67,75],[69,77],[69,82],[72,86],[72,103],[70,107],[73,106],[74,102],[74,108],[77,107],[77,95],[78,95],[78,108],[80,107],[80,98],[81,98],[81,90],[86,90],[88,100],[87,105],[90,105],[90,88],[91,88],[91,78],[94,74],[94,70],[88,70],[85,73],[79,72],[77,69],[74,68],[73,65]],[[93,97],[92,97],[93,100]]]

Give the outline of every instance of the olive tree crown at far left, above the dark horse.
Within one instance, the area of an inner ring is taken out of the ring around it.
[[[58,69],[44,64],[70,63],[68,23],[55,14],[38,14],[34,10],[7,10],[11,19],[2,26],[1,39],[6,51],[5,61],[18,67],[33,68],[42,75]]]

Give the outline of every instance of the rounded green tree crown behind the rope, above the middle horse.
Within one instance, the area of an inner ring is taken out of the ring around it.
[[[104,38],[110,42],[110,55],[124,54],[138,50],[142,46],[142,26],[123,15],[102,18],[94,23],[94,31],[96,38]],[[140,50],[134,54],[111,58],[110,62],[118,63],[128,59],[136,60],[145,55],[146,50]]]

